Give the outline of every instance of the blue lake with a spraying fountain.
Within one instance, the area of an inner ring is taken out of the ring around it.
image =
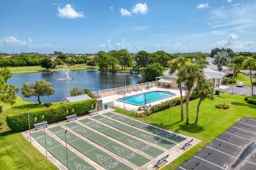
[[[42,73],[27,73],[27,74],[13,74],[7,83],[13,84],[19,88],[22,87],[23,82],[34,82],[36,79],[45,79],[52,83],[54,88],[54,95],[50,97],[41,97],[42,103],[44,102],[56,102],[61,99],[70,96],[68,89],[73,88],[75,85],[79,88],[89,88],[92,91],[97,89],[108,89],[124,86],[125,73],[109,73],[100,72],[98,70],[78,70],[70,71],[69,77],[73,80],[57,81],[58,78],[65,78],[64,71],[60,72],[42,72]],[[143,77],[140,74],[126,73],[126,86],[130,84],[137,84],[143,82]],[[18,93],[22,97],[21,92]],[[23,97],[22,97],[23,98]],[[23,98],[26,101],[32,101],[37,103],[36,97]]]

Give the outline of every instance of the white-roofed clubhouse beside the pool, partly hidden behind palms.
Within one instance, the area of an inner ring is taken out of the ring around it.
[[[212,86],[213,87],[218,87],[221,86],[221,81],[225,76],[225,73],[213,70],[210,68],[205,68],[203,69],[205,78],[207,80],[212,81]],[[171,88],[178,88],[178,83],[176,80],[178,79],[177,73],[173,73],[172,75],[169,74],[169,70],[166,70],[163,72],[162,77],[156,77],[156,81],[158,81],[159,86],[165,86],[165,85],[170,85]],[[184,86],[184,84],[182,84]]]

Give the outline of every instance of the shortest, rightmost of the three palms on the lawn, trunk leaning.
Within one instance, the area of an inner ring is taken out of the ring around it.
[[[195,121],[195,123],[197,123],[198,115],[199,115],[199,107],[202,101],[205,99],[214,100],[214,87],[212,87],[212,82],[206,81],[206,80],[198,81],[197,86],[193,89],[192,95],[199,98],[199,101],[197,104],[197,110],[196,110],[196,121]]]

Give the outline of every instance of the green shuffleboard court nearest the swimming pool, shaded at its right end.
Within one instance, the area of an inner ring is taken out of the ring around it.
[[[165,130],[159,129],[154,127],[153,125],[149,125],[146,123],[142,123],[140,121],[135,121],[132,118],[129,117],[125,117],[125,116],[121,116],[121,115],[117,115],[114,113],[105,113],[104,115],[109,116],[111,118],[114,118],[115,120],[130,124],[132,126],[135,126],[137,128],[143,129],[145,131],[157,134],[161,137],[167,138],[167,139],[171,139],[175,142],[182,142],[184,140],[186,140],[187,138],[181,137],[180,135],[174,134],[174,133],[170,133],[167,132]]]

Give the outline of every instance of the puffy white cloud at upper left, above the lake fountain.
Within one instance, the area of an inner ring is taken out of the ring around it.
[[[84,12],[76,12],[70,4],[67,4],[63,8],[58,7],[58,11],[59,13],[57,15],[60,18],[76,19],[84,17]]]

